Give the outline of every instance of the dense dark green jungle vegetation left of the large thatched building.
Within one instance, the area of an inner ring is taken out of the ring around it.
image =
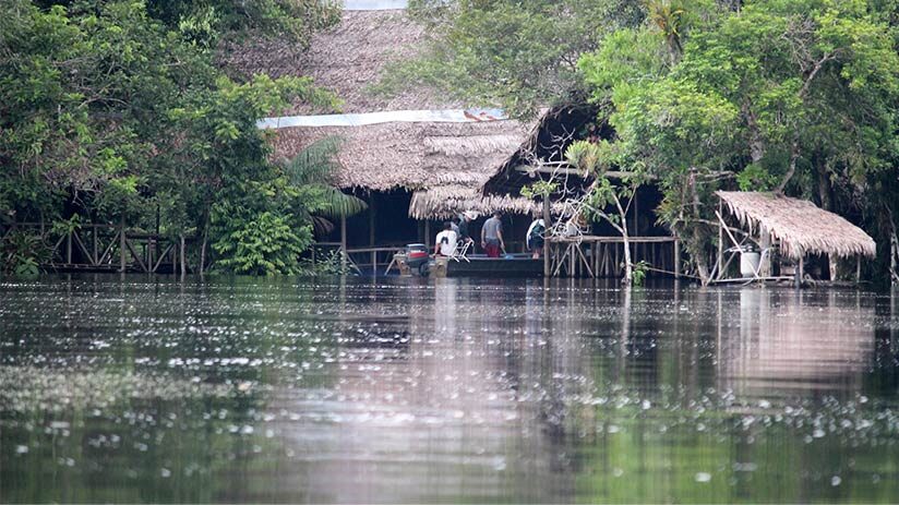
[[[77,227],[120,223],[191,237],[225,272],[300,269],[322,217],[362,204],[322,184],[336,145],[268,160],[256,121],[301,99],[337,97],[309,79],[229,80],[225,39],[308,45],[339,21],[317,0],[7,0],[0,3],[0,219]],[[28,272],[45,237],[3,241],[7,272]],[[196,264],[196,258],[192,262]]]

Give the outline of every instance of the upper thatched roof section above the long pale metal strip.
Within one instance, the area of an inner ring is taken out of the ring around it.
[[[315,35],[308,51],[288,40],[260,39],[228,48],[224,58],[244,76],[310,76],[345,100],[344,112],[466,107],[425,88],[391,97],[371,92],[389,62],[415,56],[424,40],[424,28],[405,11],[344,11],[340,23]],[[309,112],[298,103],[285,113]]]

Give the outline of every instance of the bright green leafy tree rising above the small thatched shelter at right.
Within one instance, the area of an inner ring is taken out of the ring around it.
[[[810,179],[862,189],[889,166],[899,57],[880,14],[864,1],[747,1],[700,16],[669,67],[652,61],[669,43],[649,27],[610,37],[640,47],[582,57],[592,99],[610,104],[620,161],[659,177],[660,218],[686,239],[704,279],[722,180],[741,173],[744,188],[807,194]]]

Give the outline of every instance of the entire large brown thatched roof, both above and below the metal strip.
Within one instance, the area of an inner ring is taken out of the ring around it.
[[[285,40],[255,40],[230,48],[226,58],[243,75],[311,76],[345,100],[345,113],[464,109],[428,88],[396,96],[373,93],[387,65],[413,57],[425,40],[424,28],[403,10],[344,11],[341,22],[315,35],[308,50]],[[311,112],[299,103],[284,111]],[[369,191],[404,188],[417,192],[410,216],[444,218],[465,209],[528,212],[530,202],[524,199],[482,197],[479,191],[530,134],[530,124],[515,120],[386,122],[281,128],[273,133],[273,143],[275,157],[284,158],[323,137],[339,136],[344,142],[334,183]]]

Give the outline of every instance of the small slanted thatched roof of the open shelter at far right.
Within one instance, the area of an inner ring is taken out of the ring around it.
[[[812,202],[739,191],[716,193],[742,226],[780,240],[781,252],[794,260],[806,254],[874,257],[874,239],[842,217]]]

